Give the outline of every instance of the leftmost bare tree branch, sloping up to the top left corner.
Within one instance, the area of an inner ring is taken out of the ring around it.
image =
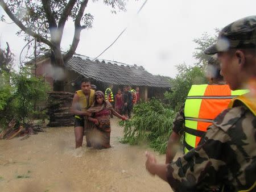
[[[13,12],[10,11],[10,9],[8,8],[8,6],[6,5],[6,3],[3,0],[0,0],[0,5],[3,8],[3,10],[5,10],[6,14],[10,17],[11,20],[13,20],[13,22],[24,32],[26,32],[26,34],[31,35],[32,37],[34,37],[36,40],[43,42],[44,44],[47,44],[49,47],[54,48],[55,45],[53,45],[51,43],[51,41],[47,40],[46,38],[36,34],[34,31],[30,30],[30,28],[27,28],[26,26],[24,26],[24,24],[18,19],[16,18],[16,16],[13,14]]]

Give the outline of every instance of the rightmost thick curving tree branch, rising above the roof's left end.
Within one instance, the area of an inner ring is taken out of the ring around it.
[[[81,34],[82,29],[84,29],[84,27],[81,27],[80,22],[81,22],[82,16],[84,15],[84,10],[85,10],[85,7],[87,6],[87,3],[88,3],[88,0],[82,1],[81,7],[80,7],[79,12],[76,16],[75,34],[74,34],[74,37],[73,37],[72,45],[69,48],[69,51],[67,52],[67,54],[64,56],[64,63],[65,64],[74,55],[74,53],[76,51],[76,48],[77,48],[77,45],[79,44],[80,34]]]

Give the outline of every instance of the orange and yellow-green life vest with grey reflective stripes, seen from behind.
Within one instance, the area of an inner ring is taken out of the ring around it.
[[[185,153],[195,148],[207,127],[212,124],[232,98],[248,90],[230,90],[228,85],[192,85],[185,101]]]

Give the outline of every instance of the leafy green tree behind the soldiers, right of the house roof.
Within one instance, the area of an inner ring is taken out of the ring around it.
[[[201,37],[193,40],[198,45],[195,48],[196,52],[193,53],[193,57],[197,60],[195,64],[191,66],[179,64],[176,66],[178,74],[174,79],[170,80],[171,91],[164,94],[165,99],[169,101],[173,110],[179,110],[180,106],[185,102],[192,85],[206,84],[208,82],[207,78],[205,78],[204,69],[210,56],[205,55],[204,50],[216,43],[219,31],[216,28],[216,34],[213,36],[209,35],[208,32],[204,32]]]

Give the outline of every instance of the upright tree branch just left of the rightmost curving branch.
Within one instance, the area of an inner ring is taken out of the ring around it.
[[[69,0],[67,6],[65,6],[65,9],[63,10],[63,13],[60,16],[60,20],[58,23],[58,31],[59,31],[59,35],[60,35],[60,41],[62,39],[62,35],[63,35],[63,30],[64,30],[64,26],[65,23],[68,19],[68,16],[71,14],[71,11],[73,9],[73,7],[76,4],[76,0]]]

